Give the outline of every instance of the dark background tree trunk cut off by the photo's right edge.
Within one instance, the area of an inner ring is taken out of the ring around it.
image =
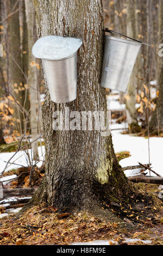
[[[159,42],[163,43],[163,2],[161,0],[159,1]],[[163,132],[163,57],[159,57],[158,69],[159,98],[149,123],[149,130],[160,133]]]

